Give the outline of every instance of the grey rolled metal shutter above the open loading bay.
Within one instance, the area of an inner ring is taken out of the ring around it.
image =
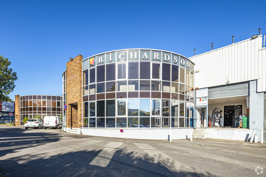
[[[249,96],[249,82],[208,89],[208,99]]]

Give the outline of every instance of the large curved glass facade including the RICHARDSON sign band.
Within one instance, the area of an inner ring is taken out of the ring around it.
[[[82,125],[193,127],[194,64],[169,51],[128,49],[82,61]]]

